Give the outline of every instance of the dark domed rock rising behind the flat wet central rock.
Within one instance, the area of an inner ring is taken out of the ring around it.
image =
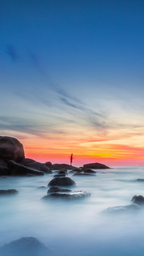
[[[48,186],[76,186],[75,181],[68,177],[54,178],[48,184]]]

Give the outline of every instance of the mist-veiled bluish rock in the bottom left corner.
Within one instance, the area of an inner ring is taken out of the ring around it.
[[[35,237],[21,237],[0,248],[1,256],[49,256],[49,248]]]

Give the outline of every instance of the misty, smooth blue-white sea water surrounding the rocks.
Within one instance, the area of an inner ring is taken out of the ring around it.
[[[104,173],[103,173],[104,172]],[[69,174],[71,177],[73,174]],[[76,188],[91,193],[80,200],[40,200],[51,175],[0,178],[0,189],[19,194],[0,197],[0,246],[20,237],[36,237],[55,256],[143,255],[144,209],[102,215],[107,207],[129,205],[144,196],[144,166],[98,170],[96,176],[73,176]],[[15,255],[17,256],[17,255]]]

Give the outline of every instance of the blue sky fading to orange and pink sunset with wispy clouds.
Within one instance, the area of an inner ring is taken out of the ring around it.
[[[25,156],[144,164],[144,1],[1,0],[0,135]]]

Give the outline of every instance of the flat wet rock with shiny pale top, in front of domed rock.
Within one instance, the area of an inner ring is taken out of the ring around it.
[[[41,199],[48,200],[49,198],[64,198],[64,199],[81,199],[85,197],[89,197],[91,194],[84,191],[73,191],[69,193],[58,193],[55,192],[53,194],[42,197]]]

